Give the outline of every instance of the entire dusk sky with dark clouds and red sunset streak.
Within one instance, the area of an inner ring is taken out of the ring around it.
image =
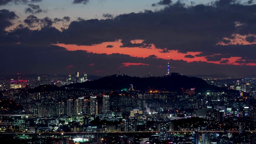
[[[0,76],[252,76],[253,0],[0,0]]]

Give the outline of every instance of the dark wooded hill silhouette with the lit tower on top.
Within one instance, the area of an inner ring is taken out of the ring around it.
[[[178,73],[171,73],[168,76],[156,76],[148,78],[131,77],[123,74],[117,74],[112,76],[106,76],[98,80],[70,84],[63,87],[105,90],[129,90],[130,84],[133,85],[134,90],[141,91],[162,90],[178,92],[181,91],[182,88],[195,88],[197,93],[204,93],[207,90],[230,91],[226,88],[209,85],[202,78],[188,77]]]

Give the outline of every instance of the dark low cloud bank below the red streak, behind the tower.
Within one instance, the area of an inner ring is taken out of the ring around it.
[[[52,31],[52,30],[50,30]],[[41,37],[42,40],[45,37]],[[35,42],[36,43],[36,42]],[[167,60],[149,56],[148,58],[132,57],[125,54],[95,54],[82,50],[68,51],[59,46],[0,46],[0,75],[16,74],[68,74],[79,71],[105,76],[106,73],[118,74],[123,63],[142,63],[149,65],[124,66],[121,74],[129,76],[164,76],[167,72]],[[10,59],[10,54],[12,58]],[[24,57],[24,55],[26,55]],[[8,60],[7,60],[8,59]],[[20,60],[22,59],[22,61]],[[7,60],[7,61],[6,61]],[[229,76],[249,76],[255,73],[255,66],[235,66],[230,64],[211,64],[207,62],[186,62],[184,60],[169,60],[170,72],[184,75],[195,74],[229,74]],[[10,65],[12,65],[10,67]],[[93,66],[92,66],[93,65]],[[69,68],[67,68],[69,67]],[[196,67],[196,69],[195,69]]]

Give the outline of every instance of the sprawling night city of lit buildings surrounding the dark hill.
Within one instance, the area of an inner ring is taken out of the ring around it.
[[[240,89],[238,92],[207,90],[204,93],[195,88],[173,92],[141,91],[136,90],[134,84],[128,85],[127,90],[76,87],[49,90],[52,85],[64,82],[57,79],[42,76],[27,80],[24,88],[6,88],[6,83],[2,83],[0,131],[50,132],[54,133],[50,142],[61,143],[67,140],[68,143],[90,144],[256,142],[254,78],[209,79],[206,82],[218,87]],[[76,72],[74,77],[68,74],[63,79],[66,84],[80,83],[87,80],[87,75],[80,77]],[[18,81],[11,82],[14,85],[25,82]],[[38,81],[39,90],[28,91],[28,86]],[[45,140],[40,135],[37,138]]]

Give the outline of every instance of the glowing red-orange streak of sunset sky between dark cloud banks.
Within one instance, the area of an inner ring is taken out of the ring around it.
[[[245,37],[240,37],[236,35],[236,40],[232,41],[232,44],[236,42],[236,44],[242,44],[240,41],[245,41]],[[228,40],[228,39],[227,39]],[[143,40],[132,40],[132,43],[141,43]],[[224,45],[224,43],[219,43]],[[247,44],[247,43],[246,43]],[[116,40],[115,42],[103,42],[101,44],[94,44],[92,46],[77,46],[75,44],[56,44],[57,46],[61,46],[66,48],[67,50],[74,51],[74,50],[86,50],[87,52],[92,52],[96,54],[127,54],[133,57],[138,58],[146,58],[151,55],[155,55],[157,58],[162,59],[169,59],[171,60],[184,60],[186,62],[208,62],[208,63],[214,63],[214,64],[233,64],[233,65],[242,65],[239,63],[236,63],[236,60],[239,60],[241,57],[231,57],[231,58],[222,58],[222,60],[228,60],[226,63],[220,63],[220,61],[207,61],[205,56],[196,57],[196,54],[200,54],[201,52],[187,52],[186,54],[178,52],[178,50],[167,50],[159,49],[154,46],[154,44],[151,44],[150,48],[140,48],[140,47],[120,47],[122,46],[121,40]],[[112,48],[106,48],[107,46],[113,46]],[[195,56],[194,58],[186,58],[186,55]],[[250,66],[256,66],[254,63],[249,63],[246,65]],[[93,66],[93,65],[90,65]]]

